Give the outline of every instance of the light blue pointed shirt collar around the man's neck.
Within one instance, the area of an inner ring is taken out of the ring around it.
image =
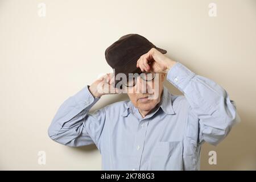
[[[166,113],[166,114],[175,114],[175,111],[172,107],[172,98],[171,97],[172,97],[171,93],[164,86],[161,101],[159,102],[158,105],[156,105],[156,107],[160,106],[162,108],[162,110],[164,111],[164,113]],[[135,109],[136,108],[134,107],[134,105],[132,104],[131,101],[127,102],[127,107],[126,107],[125,111],[123,111],[122,117],[126,117],[128,114],[133,112]]]

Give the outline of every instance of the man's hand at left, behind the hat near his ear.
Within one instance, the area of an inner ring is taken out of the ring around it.
[[[108,73],[89,86],[90,93],[93,97],[101,97],[105,94],[121,93],[121,90],[114,87],[114,73]]]

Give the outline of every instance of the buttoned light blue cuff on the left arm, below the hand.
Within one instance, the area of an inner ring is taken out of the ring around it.
[[[98,100],[100,100],[100,97],[93,97],[92,93],[89,91],[89,86],[86,85],[82,90],[77,92],[73,98],[75,98],[77,104],[88,107],[89,105],[94,105]]]

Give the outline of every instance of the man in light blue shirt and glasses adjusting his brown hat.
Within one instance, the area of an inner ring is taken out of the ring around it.
[[[122,36],[105,52],[115,73],[69,97],[53,118],[49,137],[72,147],[95,143],[104,170],[200,169],[202,144],[217,145],[228,135],[237,122],[236,106],[221,86],[166,52],[141,35]],[[184,96],[168,92],[166,77]],[[125,90],[130,101],[88,114],[102,95]]]

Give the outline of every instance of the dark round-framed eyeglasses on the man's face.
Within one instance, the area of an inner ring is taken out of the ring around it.
[[[126,78],[126,80],[123,80],[122,83],[123,85],[127,87],[133,87],[136,85],[137,78],[141,77],[142,80],[148,82],[152,81],[155,78],[155,73],[150,73],[150,72],[142,72],[142,73],[134,73],[134,74],[129,74],[129,76]]]

